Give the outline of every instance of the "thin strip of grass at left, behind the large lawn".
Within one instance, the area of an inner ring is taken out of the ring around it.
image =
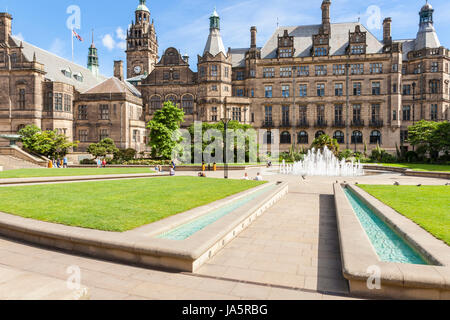
[[[19,169],[0,172],[0,179],[95,176],[111,174],[154,173],[153,168],[69,168],[69,169]]]

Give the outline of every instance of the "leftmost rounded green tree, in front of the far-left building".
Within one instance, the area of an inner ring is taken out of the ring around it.
[[[26,150],[50,158],[64,157],[78,145],[77,141],[70,142],[64,134],[50,130],[42,131],[35,125],[23,128],[19,134]]]

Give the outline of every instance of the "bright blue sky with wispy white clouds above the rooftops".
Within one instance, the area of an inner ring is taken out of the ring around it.
[[[70,31],[66,27],[67,8],[79,6],[81,28],[77,30],[84,42],[75,41],[75,62],[85,65],[91,30],[99,49],[100,71],[112,75],[113,60],[126,60],[123,37],[134,19],[138,0],[0,0],[0,11],[13,15],[13,34],[43,49],[71,59]],[[168,47],[176,47],[191,56],[196,69],[197,54],[203,52],[209,32],[214,6],[221,16],[225,47],[249,45],[250,26],[258,27],[258,45],[262,46],[280,26],[318,24],[322,0],[177,0],[147,1],[155,20],[160,55]],[[450,47],[448,17],[450,1],[431,0],[434,20],[441,44]],[[332,22],[361,22],[378,38],[382,38],[379,24],[384,17],[392,17],[394,39],[414,38],[418,30],[420,8],[425,0],[332,0]],[[376,6],[376,7],[373,7]],[[447,24],[447,25],[446,25]]]

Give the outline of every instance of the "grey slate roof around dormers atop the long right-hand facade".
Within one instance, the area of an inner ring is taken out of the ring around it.
[[[348,46],[349,32],[355,32],[355,27],[360,26],[361,32],[367,32],[367,53],[381,53],[383,44],[362,24],[358,22],[331,24],[330,55],[345,55]],[[278,36],[283,36],[284,30],[289,36],[294,37],[295,57],[311,56],[313,35],[319,34],[321,25],[279,27],[261,50],[262,59],[274,59],[277,57]]]

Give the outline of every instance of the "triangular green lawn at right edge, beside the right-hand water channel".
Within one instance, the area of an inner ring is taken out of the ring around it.
[[[359,187],[450,245],[450,187]]]

